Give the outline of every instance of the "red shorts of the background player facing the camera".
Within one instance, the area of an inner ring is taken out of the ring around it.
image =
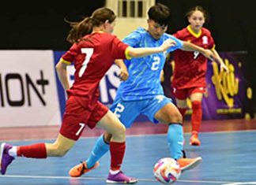
[[[205,87],[190,87],[186,89],[172,89],[172,94],[177,99],[186,99],[194,93],[205,93]]]

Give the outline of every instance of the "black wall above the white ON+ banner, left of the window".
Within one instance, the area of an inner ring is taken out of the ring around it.
[[[81,20],[94,9],[104,6],[104,2],[6,2],[6,6],[0,7],[0,50],[67,50],[70,44],[66,42],[66,35],[70,26],[64,18]]]

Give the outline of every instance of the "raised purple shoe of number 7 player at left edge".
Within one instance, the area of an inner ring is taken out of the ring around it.
[[[8,151],[11,148],[13,148],[13,146],[6,144],[5,142],[1,144],[1,149],[0,149],[0,169],[1,170],[0,171],[2,175],[6,174],[7,167],[9,166],[9,164],[11,164],[11,162],[14,159],[14,157],[8,154]]]

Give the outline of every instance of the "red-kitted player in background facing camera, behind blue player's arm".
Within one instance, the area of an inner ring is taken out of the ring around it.
[[[215,50],[215,43],[211,32],[203,28],[205,24],[206,13],[201,6],[195,6],[186,13],[189,25],[174,36],[183,41],[194,43],[205,49],[213,51],[213,54],[219,58],[220,68],[228,71],[226,65],[221,60],[220,55]],[[175,68],[171,80],[172,92],[175,96],[179,112],[183,115],[186,113],[186,98],[190,98],[192,103],[192,134],[190,145],[199,146],[198,132],[201,126],[201,100],[205,93],[205,75],[207,70],[208,59],[198,52],[187,52],[184,50],[175,50],[173,53]]]

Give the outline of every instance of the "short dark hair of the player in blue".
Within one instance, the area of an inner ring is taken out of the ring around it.
[[[168,6],[164,6],[160,3],[152,6],[148,11],[149,19],[154,20],[156,23],[164,26],[168,25],[170,14],[171,13]]]

